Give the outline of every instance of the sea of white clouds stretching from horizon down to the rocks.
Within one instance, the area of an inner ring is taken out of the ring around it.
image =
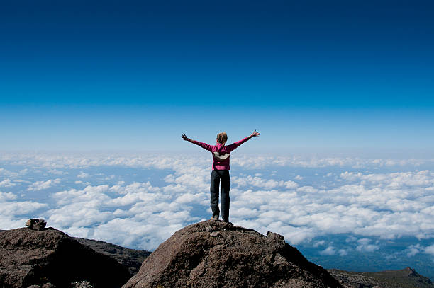
[[[236,225],[282,234],[318,260],[376,253],[433,265],[434,159],[234,153],[231,168]],[[155,250],[211,217],[210,171],[206,152],[2,153],[0,229],[40,217],[71,236]]]

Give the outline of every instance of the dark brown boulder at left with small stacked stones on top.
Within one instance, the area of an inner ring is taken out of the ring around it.
[[[87,280],[94,287],[120,287],[130,273],[113,258],[97,253],[56,229],[0,232],[0,287],[50,282],[70,287]]]

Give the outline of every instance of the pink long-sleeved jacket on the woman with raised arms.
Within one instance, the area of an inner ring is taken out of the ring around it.
[[[213,154],[213,170],[230,170],[229,157],[230,152],[237,149],[238,146],[246,142],[251,137],[245,137],[243,140],[234,142],[228,146],[220,143],[210,145],[199,141],[191,140],[191,143],[201,146]]]

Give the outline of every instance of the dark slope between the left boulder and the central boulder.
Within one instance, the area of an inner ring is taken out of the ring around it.
[[[143,261],[145,261],[145,258],[150,255],[150,252],[145,250],[128,249],[103,241],[73,238],[79,241],[79,243],[94,249],[96,252],[115,258],[118,263],[121,263],[128,268],[131,275],[137,274]]]

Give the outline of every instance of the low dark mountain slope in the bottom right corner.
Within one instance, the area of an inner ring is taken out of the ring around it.
[[[434,288],[433,282],[410,267],[380,272],[349,272],[331,269],[330,274],[345,288]]]

